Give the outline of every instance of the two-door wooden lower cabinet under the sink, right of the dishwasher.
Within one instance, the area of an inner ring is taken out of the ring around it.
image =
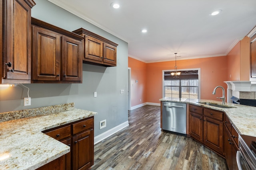
[[[222,111],[189,105],[190,136],[220,155],[223,155],[223,115]]]

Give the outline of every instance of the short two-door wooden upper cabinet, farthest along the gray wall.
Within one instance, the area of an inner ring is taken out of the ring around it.
[[[116,66],[116,49],[118,44],[84,28],[73,32],[84,37],[83,63]]]

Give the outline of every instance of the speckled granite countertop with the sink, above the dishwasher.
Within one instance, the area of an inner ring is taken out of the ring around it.
[[[242,135],[249,135],[249,136],[256,137],[256,107],[226,103],[225,105],[232,106],[234,108],[220,108],[220,107],[200,104],[198,102],[210,102],[210,103],[221,104],[221,101],[197,100],[197,99],[186,99],[186,98],[167,98],[166,97],[166,98],[160,99],[160,101],[188,103],[188,104],[194,104],[197,106],[207,107],[210,109],[224,111],[228,116],[228,118],[230,119],[231,123],[233,123],[238,133]]]

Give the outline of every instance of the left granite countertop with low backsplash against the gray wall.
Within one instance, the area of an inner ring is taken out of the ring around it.
[[[74,103],[0,113],[5,120],[0,123],[0,169],[34,170],[70,152],[41,131],[95,114],[74,108]]]

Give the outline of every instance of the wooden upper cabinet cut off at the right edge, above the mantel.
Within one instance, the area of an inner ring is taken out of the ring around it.
[[[256,26],[247,36],[250,37],[250,81],[256,81]]]

